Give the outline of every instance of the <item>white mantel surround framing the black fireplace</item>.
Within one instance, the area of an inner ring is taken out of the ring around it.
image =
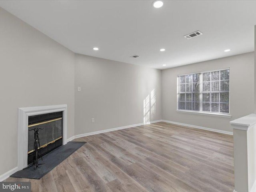
[[[28,117],[53,112],[63,112],[62,144],[67,143],[67,105],[18,108],[18,170],[28,166]]]

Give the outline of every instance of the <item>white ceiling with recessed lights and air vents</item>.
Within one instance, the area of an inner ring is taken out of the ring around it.
[[[163,1],[158,9],[152,2],[3,0],[0,6],[76,53],[152,68],[254,51],[256,1]],[[183,37],[197,30],[203,35]]]

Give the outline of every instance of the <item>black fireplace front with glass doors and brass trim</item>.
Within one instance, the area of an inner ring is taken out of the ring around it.
[[[62,145],[62,112],[28,117],[28,164],[33,162],[34,128],[39,130],[42,156]]]

